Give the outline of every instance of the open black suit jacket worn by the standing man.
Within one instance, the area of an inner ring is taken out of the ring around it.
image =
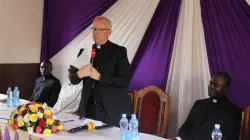
[[[129,62],[125,47],[118,46],[110,41],[102,47],[106,47],[99,63],[100,92],[104,109],[113,122],[118,126],[121,115],[132,113],[132,105],[128,96]],[[78,84],[83,80],[82,99],[78,108],[81,117],[86,116],[87,102],[90,96],[92,80],[89,77],[79,79],[76,72],[70,73],[72,84]]]

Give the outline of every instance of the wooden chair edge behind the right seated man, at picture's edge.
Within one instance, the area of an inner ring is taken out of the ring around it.
[[[240,139],[245,140],[248,134],[250,106],[246,106],[242,112]]]

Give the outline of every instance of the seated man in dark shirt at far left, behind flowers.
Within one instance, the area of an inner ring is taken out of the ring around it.
[[[52,75],[52,63],[44,61],[40,65],[41,77],[36,79],[33,95],[30,101],[46,102],[48,106],[53,107],[58,99],[61,84],[60,81]]]

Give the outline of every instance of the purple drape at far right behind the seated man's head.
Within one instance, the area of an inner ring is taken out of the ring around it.
[[[239,107],[250,105],[250,6],[245,0],[200,4],[210,72],[228,72],[229,99]]]

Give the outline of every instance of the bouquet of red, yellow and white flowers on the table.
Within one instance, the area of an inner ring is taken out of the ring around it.
[[[21,129],[29,133],[42,133],[50,135],[52,132],[61,131],[63,124],[56,119],[52,108],[46,103],[29,102],[18,106],[11,113],[8,125],[12,129]]]

